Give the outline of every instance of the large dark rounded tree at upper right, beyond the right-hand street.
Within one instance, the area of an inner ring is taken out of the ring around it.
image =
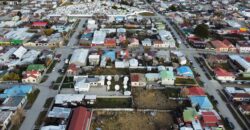
[[[200,38],[208,38],[209,37],[209,30],[206,24],[199,24],[194,29],[194,34]]]

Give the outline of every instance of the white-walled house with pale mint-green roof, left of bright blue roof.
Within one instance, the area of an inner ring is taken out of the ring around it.
[[[175,76],[173,68],[170,67],[160,72],[161,84],[162,85],[174,85]]]

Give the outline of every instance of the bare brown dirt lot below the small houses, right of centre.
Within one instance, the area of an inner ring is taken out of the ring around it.
[[[180,106],[177,101],[170,100],[175,92],[172,90],[146,90],[143,88],[133,88],[132,95],[134,107],[142,109],[175,109]]]

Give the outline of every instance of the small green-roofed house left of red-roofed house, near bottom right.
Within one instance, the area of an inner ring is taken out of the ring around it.
[[[187,107],[183,111],[183,120],[184,122],[192,122],[198,117],[198,112],[195,110],[195,108]]]

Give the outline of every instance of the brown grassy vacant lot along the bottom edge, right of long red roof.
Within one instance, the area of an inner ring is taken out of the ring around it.
[[[104,112],[93,113],[91,129],[102,130],[169,130],[173,119],[169,113]]]

